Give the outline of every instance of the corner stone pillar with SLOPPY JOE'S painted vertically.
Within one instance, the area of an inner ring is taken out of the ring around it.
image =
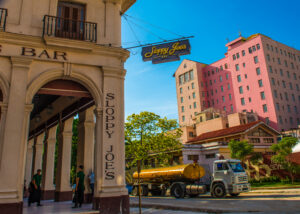
[[[96,109],[94,208],[100,213],[129,213],[125,187],[125,70],[103,67],[103,114]]]

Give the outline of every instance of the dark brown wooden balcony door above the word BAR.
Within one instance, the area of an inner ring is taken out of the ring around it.
[[[84,40],[84,21],[84,5],[58,2],[56,36]]]

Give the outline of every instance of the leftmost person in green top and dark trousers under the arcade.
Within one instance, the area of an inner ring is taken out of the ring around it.
[[[41,181],[42,181],[42,170],[38,169],[37,173],[33,176],[32,181],[29,186],[29,198],[28,206],[30,207],[31,203],[37,202],[37,206],[41,205]]]

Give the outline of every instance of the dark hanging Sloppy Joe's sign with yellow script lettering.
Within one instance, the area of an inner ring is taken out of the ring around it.
[[[189,40],[169,42],[160,45],[143,47],[143,61],[151,61],[153,64],[173,62],[180,60],[180,55],[187,55],[191,52]]]

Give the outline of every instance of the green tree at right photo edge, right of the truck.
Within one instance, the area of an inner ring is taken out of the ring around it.
[[[292,183],[294,183],[294,175],[300,173],[300,166],[290,160],[290,154],[297,141],[298,139],[295,137],[284,137],[277,144],[271,146],[271,149],[276,152],[271,160],[289,172]]]

